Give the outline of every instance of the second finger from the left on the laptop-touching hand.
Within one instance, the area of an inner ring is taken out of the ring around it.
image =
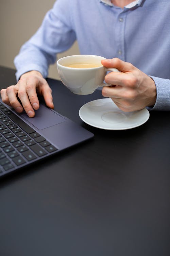
[[[10,105],[17,111],[22,112],[23,108],[20,102],[17,99],[17,93],[18,93],[18,86],[17,85],[11,85],[6,88],[6,95],[8,98],[8,101]]]

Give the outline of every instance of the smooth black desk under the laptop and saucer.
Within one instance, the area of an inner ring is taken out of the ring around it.
[[[0,68],[0,88],[15,84]],[[0,180],[1,256],[169,256],[170,113],[107,131],[79,118],[77,96],[48,79],[55,110],[95,134]]]

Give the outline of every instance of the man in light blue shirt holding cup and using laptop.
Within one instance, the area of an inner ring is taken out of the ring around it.
[[[169,0],[57,0],[15,58],[19,81],[1,90],[2,100],[33,117],[37,92],[53,108],[44,77],[56,54],[77,39],[81,54],[103,56],[104,66],[121,71],[108,73],[113,86],[102,89],[121,110],[170,110],[169,12]]]

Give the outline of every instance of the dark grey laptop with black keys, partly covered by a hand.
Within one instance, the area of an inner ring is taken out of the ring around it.
[[[0,177],[94,136],[44,104],[33,118],[0,99]]]

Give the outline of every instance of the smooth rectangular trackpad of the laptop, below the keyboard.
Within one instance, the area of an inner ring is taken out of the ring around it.
[[[34,117],[30,118],[26,113],[21,114],[21,116],[39,130],[67,121],[67,119],[42,104],[40,104],[38,110],[35,110]]]

